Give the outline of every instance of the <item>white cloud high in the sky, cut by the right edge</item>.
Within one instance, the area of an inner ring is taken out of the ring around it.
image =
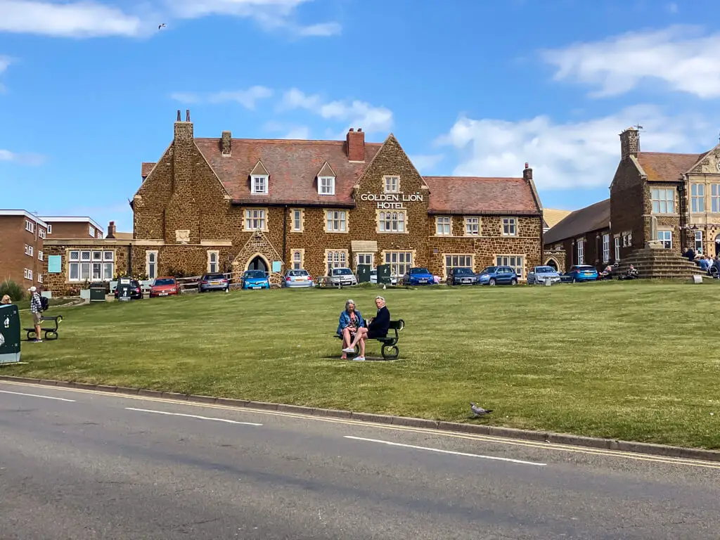
[[[593,96],[616,96],[659,80],[674,91],[720,97],[720,34],[703,36],[693,27],[629,32],[541,55],[557,68],[556,80],[595,87]]]

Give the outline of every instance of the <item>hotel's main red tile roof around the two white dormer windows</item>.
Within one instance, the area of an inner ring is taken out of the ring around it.
[[[234,202],[354,205],[353,186],[382,143],[365,143],[364,163],[351,163],[343,140],[233,139],[222,156],[220,139],[196,138],[197,148]],[[248,176],[258,161],[270,174],[267,195],[251,195]],[[319,195],[316,176],[327,161],[336,173],[335,195]]]

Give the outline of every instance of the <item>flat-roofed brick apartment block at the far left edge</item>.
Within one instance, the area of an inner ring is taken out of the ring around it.
[[[0,281],[42,286],[47,232],[48,225],[26,210],[0,210]]]

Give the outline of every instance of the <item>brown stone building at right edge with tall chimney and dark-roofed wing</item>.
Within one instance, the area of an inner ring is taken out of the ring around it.
[[[620,134],[620,162],[610,199],[577,210],[545,235],[562,246],[567,264],[613,264],[650,240],[678,255],[691,246],[720,254],[720,146],[703,153],[640,151],[639,131]],[[608,215],[609,210],[609,215]],[[610,258],[606,235],[610,235]]]

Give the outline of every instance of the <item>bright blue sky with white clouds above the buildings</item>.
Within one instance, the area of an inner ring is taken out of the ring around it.
[[[0,0],[0,207],[132,230],[140,163],[195,135],[395,133],[423,174],[608,196],[618,133],[720,130],[716,1]],[[158,24],[165,27],[158,30]],[[184,112],[183,112],[184,114]]]

